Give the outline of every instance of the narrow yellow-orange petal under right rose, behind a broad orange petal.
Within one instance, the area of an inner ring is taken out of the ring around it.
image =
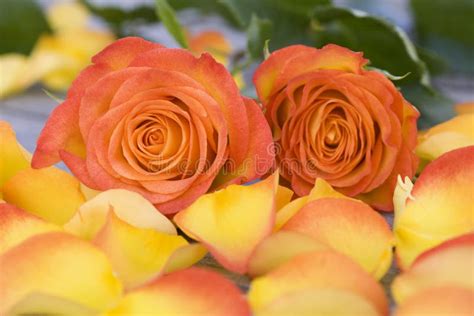
[[[291,201],[285,205],[276,215],[275,220],[275,230],[279,230],[286,222],[290,220],[298,211],[305,206],[307,203],[311,201],[315,201],[321,198],[343,198],[349,199],[351,198],[345,196],[344,194],[337,192],[334,190],[326,180],[322,178],[316,179],[314,183],[313,189],[309,192],[309,195],[300,197]]]

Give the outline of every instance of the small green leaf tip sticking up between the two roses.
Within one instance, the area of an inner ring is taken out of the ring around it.
[[[247,49],[251,58],[261,59],[264,57],[265,43],[271,36],[272,27],[273,24],[270,20],[260,19],[256,14],[252,15],[247,29]]]

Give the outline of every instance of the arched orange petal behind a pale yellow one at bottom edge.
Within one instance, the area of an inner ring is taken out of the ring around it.
[[[253,280],[248,299],[258,314],[292,293],[328,288],[358,295],[372,304],[378,315],[388,314],[387,298],[380,284],[351,259],[334,251],[301,254]]]

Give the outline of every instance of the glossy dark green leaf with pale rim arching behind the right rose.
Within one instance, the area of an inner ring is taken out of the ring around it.
[[[319,27],[318,45],[335,43],[362,51],[374,67],[390,73],[411,73],[404,81],[430,85],[426,65],[406,33],[396,25],[363,11],[333,6],[317,7],[313,18]]]

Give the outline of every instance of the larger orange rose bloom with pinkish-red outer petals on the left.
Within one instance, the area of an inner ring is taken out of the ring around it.
[[[274,163],[260,107],[211,55],[124,38],[92,62],[46,122],[33,167],[63,160],[90,188],[135,191],[174,213]]]

